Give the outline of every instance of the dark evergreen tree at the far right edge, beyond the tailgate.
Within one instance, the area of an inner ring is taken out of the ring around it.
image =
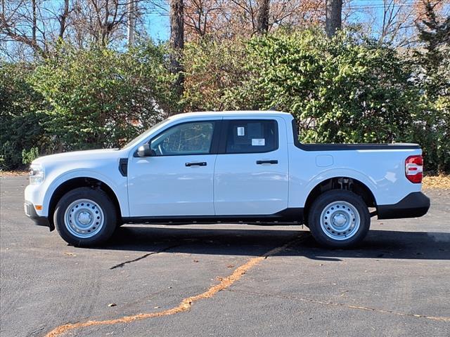
[[[435,6],[425,4],[418,25],[421,48],[413,53],[412,81],[425,108],[415,116],[416,137],[425,153],[425,167],[450,172],[450,17],[439,18]]]

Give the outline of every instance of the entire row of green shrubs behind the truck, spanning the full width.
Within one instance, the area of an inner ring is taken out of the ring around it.
[[[36,65],[0,63],[0,169],[117,147],[182,110],[275,107],[296,117],[303,142],[419,143],[427,170],[450,172],[449,46],[428,49],[406,60],[412,53],[314,29],[203,39],[184,49],[180,98],[166,46],[61,45]]]

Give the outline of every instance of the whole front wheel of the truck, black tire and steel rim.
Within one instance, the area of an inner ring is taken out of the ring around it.
[[[53,220],[65,242],[74,246],[96,246],[111,237],[117,216],[113,201],[105,192],[79,187],[60,199]]]

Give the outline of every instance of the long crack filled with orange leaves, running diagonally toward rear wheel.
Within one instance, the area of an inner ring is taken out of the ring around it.
[[[105,319],[105,320],[91,320],[87,322],[78,322],[78,323],[68,323],[64,325],[57,326],[55,329],[51,330],[49,333],[46,334],[46,337],[57,337],[62,335],[63,333],[66,333],[73,329],[80,329],[80,328],[86,328],[88,326],[101,326],[101,325],[112,325],[112,324],[120,324],[120,323],[129,323],[138,321],[141,319],[149,319],[153,317],[162,317],[162,316],[168,316],[168,315],[174,315],[179,312],[186,312],[191,309],[194,302],[198,300],[202,300],[204,298],[212,298],[216,293],[219,291],[222,291],[224,289],[229,288],[234,282],[238,281],[243,275],[245,275],[248,270],[250,270],[252,267],[255,267],[258,263],[262,262],[262,260],[265,260],[269,256],[273,256],[276,253],[279,253],[283,250],[285,250],[288,246],[302,242],[304,239],[309,237],[309,234],[300,234],[295,239],[291,240],[290,242],[287,242],[286,244],[283,244],[283,246],[276,247],[274,249],[271,249],[270,251],[267,251],[266,253],[262,254],[261,256],[257,256],[256,258],[250,258],[246,263],[243,265],[240,265],[237,267],[231,275],[224,277],[220,279],[219,284],[215,284],[214,286],[210,286],[209,289],[204,291],[203,293],[199,293],[198,295],[191,296],[188,298],[184,298],[181,300],[179,305],[177,305],[174,308],[162,310],[159,312],[148,312],[143,314],[136,314],[131,316],[124,316],[116,319]]]

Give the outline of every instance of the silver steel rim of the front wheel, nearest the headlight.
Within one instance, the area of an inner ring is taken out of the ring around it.
[[[65,227],[79,239],[94,237],[101,231],[104,222],[103,210],[91,199],[77,199],[65,209]]]

